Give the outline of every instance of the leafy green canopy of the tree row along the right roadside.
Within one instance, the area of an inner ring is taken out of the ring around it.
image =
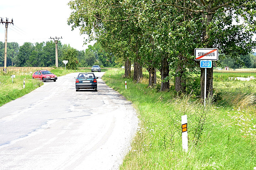
[[[186,68],[198,68],[195,48],[218,48],[220,58],[239,59],[256,47],[253,0],[73,0],[69,6],[68,24],[88,34],[88,41],[97,40],[147,69],[156,67],[162,84],[174,76],[177,91],[185,91]],[[207,70],[206,96],[211,96],[213,68]],[[201,69],[202,97],[204,81]],[[168,84],[163,90],[167,88]]]

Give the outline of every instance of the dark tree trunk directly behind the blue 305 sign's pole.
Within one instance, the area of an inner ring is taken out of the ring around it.
[[[213,68],[206,68],[206,98],[213,96]],[[201,98],[204,101],[204,74],[205,68],[201,68]]]

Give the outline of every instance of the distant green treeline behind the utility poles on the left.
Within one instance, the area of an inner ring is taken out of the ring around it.
[[[69,45],[58,43],[59,66],[64,66],[63,60],[68,60],[67,54],[72,51],[72,60],[76,67],[90,67],[100,65],[114,67],[117,65],[114,55],[105,51],[99,43],[89,45],[85,51],[78,51]],[[70,56],[69,56],[70,57]],[[4,66],[4,43],[0,42],[0,66]],[[55,43],[7,43],[7,66],[19,67],[51,67],[55,66]]]

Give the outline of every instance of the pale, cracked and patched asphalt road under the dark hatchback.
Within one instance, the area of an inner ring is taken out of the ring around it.
[[[76,92],[77,74],[0,107],[1,170],[118,169],[138,127],[135,109],[103,72],[98,91]]]

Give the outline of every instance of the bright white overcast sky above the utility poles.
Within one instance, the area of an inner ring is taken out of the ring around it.
[[[62,44],[69,44],[78,50],[87,49],[83,45],[84,37],[78,29],[71,30],[67,19],[71,13],[67,3],[69,0],[8,0],[0,4],[0,17],[6,17],[13,24],[8,25],[7,42],[46,42],[50,37],[61,37]],[[0,24],[0,41],[5,40],[5,24]]]

